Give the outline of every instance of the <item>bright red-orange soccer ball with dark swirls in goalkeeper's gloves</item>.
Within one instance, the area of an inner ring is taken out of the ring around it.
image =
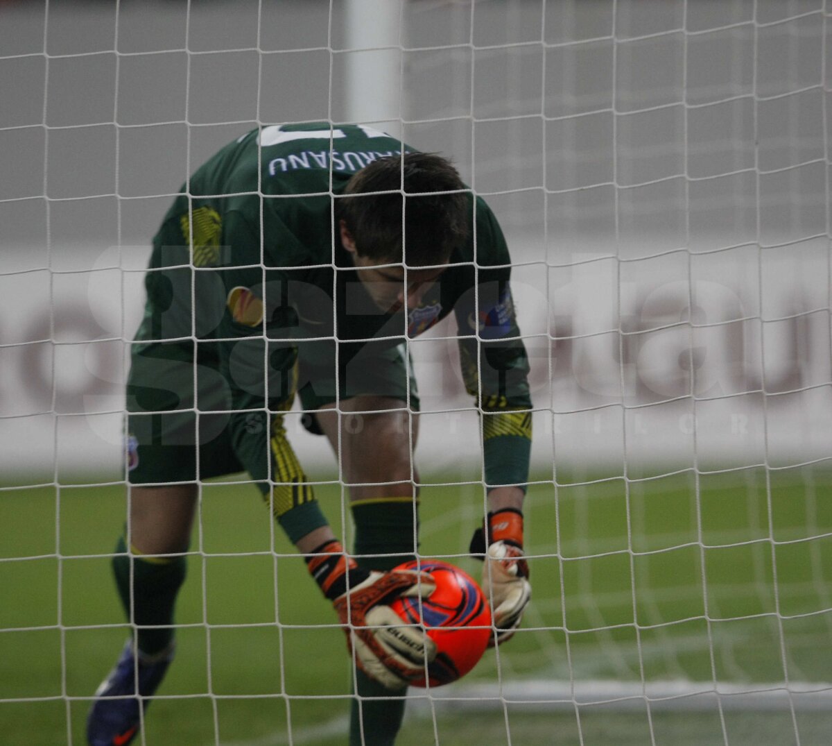
[[[428,599],[396,599],[390,607],[408,624],[422,626],[436,643],[437,654],[428,665],[428,679],[414,686],[450,684],[468,673],[483,657],[491,639],[491,609],[477,582],[453,564],[419,560],[395,569],[428,573],[436,589]]]

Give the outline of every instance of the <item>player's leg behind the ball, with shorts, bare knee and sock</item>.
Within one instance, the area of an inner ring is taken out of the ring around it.
[[[418,391],[404,345],[299,346],[300,400],[305,426],[326,435],[350,485],[359,564],[390,569],[418,547],[418,475],[412,450],[418,432]],[[314,413],[314,414],[313,414]],[[406,689],[386,689],[355,671],[350,746],[394,744],[404,719]]]

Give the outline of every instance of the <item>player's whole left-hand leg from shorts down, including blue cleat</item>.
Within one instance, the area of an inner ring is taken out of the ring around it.
[[[127,386],[129,512],[112,569],[134,633],[97,691],[87,719],[92,746],[128,744],[141,725],[174,653],[176,598],[186,577],[186,551],[197,480],[240,470],[231,454],[225,391],[210,356],[196,364],[185,346],[142,346]],[[205,369],[204,375],[200,372]],[[138,689],[136,690],[136,683]],[[138,699],[135,694],[141,695]]]

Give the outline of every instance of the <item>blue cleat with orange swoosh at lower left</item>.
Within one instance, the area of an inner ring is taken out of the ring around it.
[[[141,710],[147,709],[151,697],[165,678],[173,660],[171,644],[153,656],[133,654],[133,642],[121,651],[116,668],[96,692],[96,700],[87,716],[87,740],[90,746],[126,746],[139,732]],[[136,658],[138,658],[139,696],[136,697]]]

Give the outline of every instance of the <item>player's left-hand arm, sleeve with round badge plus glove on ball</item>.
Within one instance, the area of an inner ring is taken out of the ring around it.
[[[237,245],[260,246],[259,236],[240,216],[232,214],[230,221]],[[270,228],[273,236],[279,226]],[[249,262],[238,258],[236,263]],[[404,687],[423,678],[436,648],[420,629],[403,624],[388,604],[399,596],[427,597],[433,582],[426,574],[379,573],[357,566],[329,527],[286,434],[300,334],[292,294],[300,291],[303,272],[264,273],[243,266],[223,274],[222,360],[230,382],[235,451],[334,604],[356,663],[385,686]]]

